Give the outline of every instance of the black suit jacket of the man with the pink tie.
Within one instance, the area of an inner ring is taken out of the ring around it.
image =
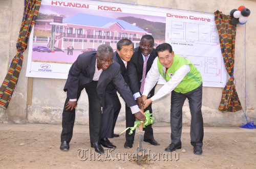
[[[129,79],[129,86],[133,94],[140,92],[140,86],[143,75],[143,56],[140,51],[140,47],[134,49],[134,54],[130,62],[127,63],[127,77]],[[155,48],[150,53],[150,58],[147,60],[146,64],[146,74],[150,70],[155,58],[157,57]],[[155,87],[152,89],[153,95],[155,91]],[[142,94],[142,93],[141,93]],[[151,96],[153,96],[151,95]]]

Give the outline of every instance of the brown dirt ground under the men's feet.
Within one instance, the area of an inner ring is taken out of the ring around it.
[[[120,133],[123,126],[117,126]],[[193,154],[190,127],[183,127],[182,149],[168,153],[170,127],[154,126],[161,144],[143,143],[144,156],[138,165],[134,147],[124,149],[125,135],[111,138],[117,149],[98,156],[90,147],[89,126],[75,125],[70,150],[60,151],[61,125],[0,124],[0,168],[255,168],[256,130],[239,127],[205,127],[203,154]]]

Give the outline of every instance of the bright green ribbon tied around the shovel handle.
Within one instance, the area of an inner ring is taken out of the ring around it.
[[[140,127],[140,122],[143,124],[143,128],[145,128],[145,126],[153,124],[155,122],[156,114],[154,114],[154,113],[150,114],[150,110],[146,110],[144,112],[144,114],[145,114],[145,123],[143,121],[135,121],[133,127],[127,127],[119,135],[121,135],[124,131],[126,131],[128,129],[131,129],[130,133],[129,133],[131,135],[133,133],[133,131],[136,129],[136,127]],[[154,115],[154,117],[151,117],[151,115]]]

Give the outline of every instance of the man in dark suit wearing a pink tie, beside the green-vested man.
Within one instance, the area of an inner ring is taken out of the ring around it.
[[[130,83],[129,86],[139,106],[144,105],[143,100],[141,98],[141,94],[144,88],[143,80],[145,80],[145,76],[147,72],[150,70],[153,61],[156,57],[157,55],[154,49],[154,38],[151,35],[144,35],[140,40],[140,46],[134,49],[133,57],[131,61],[127,64],[127,77]],[[155,87],[152,89],[150,94],[148,94],[148,98],[154,96],[154,92]],[[148,106],[146,109],[144,109],[144,111],[146,110],[150,110],[150,113],[152,113],[152,104]],[[131,109],[129,108],[128,105],[125,107],[125,117],[126,127],[133,127],[135,117],[131,114]],[[152,125],[146,126],[145,128],[143,128],[143,130],[145,131],[144,142],[150,143],[151,145],[154,146],[160,145],[154,139]],[[124,148],[133,147],[134,135],[135,132],[133,132],[133,134],[130,135],[129,131],[126,131],[126,142],[124,143]]]

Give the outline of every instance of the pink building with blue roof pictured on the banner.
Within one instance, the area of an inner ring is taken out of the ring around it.
[[[136,23],[84,13],[67,18],[36,20],[35,26],[36,30],[51,32],[47,47],[62,51],[67,50],[69,46],[73,46],[74,50],[83,50],[97,48],[101,44],[116,49],[116,43],[124,38],[130,39],[134,46],[138,47],[141,37],[148,34],[136,26]]]

